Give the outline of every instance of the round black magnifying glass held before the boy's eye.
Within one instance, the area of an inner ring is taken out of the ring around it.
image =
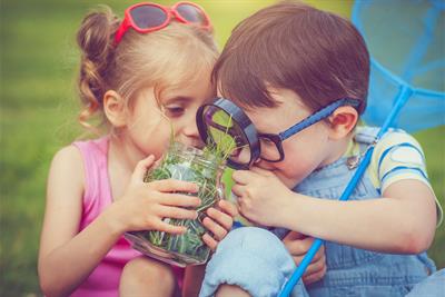
[[[234,169],[248,169],[259,157],[258,133],[246,113],[234,102],[216,98],[196,115],[201,139],[227,157]]]

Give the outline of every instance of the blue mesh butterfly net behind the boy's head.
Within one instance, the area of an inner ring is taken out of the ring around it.
[[[363,119],[382,126],[405,92],[393,126],[417,131],[445,125],[445,1],[356,1],[352,20],[372,56]]]

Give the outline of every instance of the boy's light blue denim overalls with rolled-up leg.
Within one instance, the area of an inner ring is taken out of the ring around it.
[[[356,135],[355,140],[362,152],[373,142],[376,133],[377,129],[364,129]],[[355,159],[344,157],[314,171],[294,191],[322,199],[338,199],[355,172],[352,166]],[[379,196],[365,174],[349,200]],[[207,266],[200,296],[212,296],[216,288],[225,283],[238,285],[255,297],[277,296],[295,264],[278,239],[286,230],[274,229],[273,234],[255,227],[230,231]],[[325,242],[325,277],[307,286],[307,291],[300,281],[293,296],[405,296],[436,270],[426,253],[390,255],[334,242]]]

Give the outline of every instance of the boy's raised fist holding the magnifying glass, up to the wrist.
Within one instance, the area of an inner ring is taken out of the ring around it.
[[[239,212],[255,224],[283,227],[283,212],[291,209],[293,192],[271,172],[258,167],[237,170],[231,188],[238,197]]]

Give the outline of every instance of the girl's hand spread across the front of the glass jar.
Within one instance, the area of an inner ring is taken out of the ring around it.
[[[186,209],[199,206],[198,197],[174,194],[197,192],[196,184],[174,179],[144,182],[144,176],[154,162],[154,156],[138,162],[123,197],[108,209],[108,215],[121,232],[159,230],[182,234],[186,227],[172,226],[162,219],[196,219],[198,216],[196,210]]]

